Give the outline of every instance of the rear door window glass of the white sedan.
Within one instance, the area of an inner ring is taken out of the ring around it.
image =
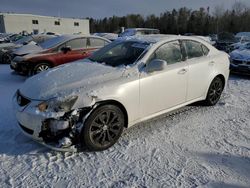
[[[188,59],[204,56],[202,44],[195,41],[183,41]]]

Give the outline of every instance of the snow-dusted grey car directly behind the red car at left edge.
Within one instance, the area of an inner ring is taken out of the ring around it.
[[[29,35],[20,38],[15,42],[0,44],[0,63],[10,64],[12,60],[12,52],[16,49],[31,45],[30,48],[36,48],[36,44],[42,43],[48,39],[55,37],[54,35]]]

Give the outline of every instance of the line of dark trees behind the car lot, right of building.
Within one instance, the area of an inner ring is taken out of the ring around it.
[[[179,10],[165,11],[159,16],[129,14],[127,16],[112,16],[103,19],[90,20],[90,31],[119,33],[121,27],[156,28],[163,34],[208,35],[220,32],[237,33],[250,31],[250,8],[241,2],[236,2],[230,10],[216,6],[213,12],[210,8],[192,10],[186,7]]]

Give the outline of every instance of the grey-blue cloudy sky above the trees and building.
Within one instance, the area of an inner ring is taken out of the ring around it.
[[[0,0],[1,12],[32,13],[61,17],[123,16],[129,13],[157,14],[173,8],[198,9],[216,5],[231,8],[236,1],[250,6],[250,0]]]

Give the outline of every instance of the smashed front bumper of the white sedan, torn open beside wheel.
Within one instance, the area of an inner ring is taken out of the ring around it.
[[[80,135],[83,120],[90,113],[91,108],[48,114],[39,113],[36,109],[37,103],[39,101],[31,101],[18,92],[13,97],[15,114],[22,132],[38,143],[56,151],[77,152],[82,150]]]

